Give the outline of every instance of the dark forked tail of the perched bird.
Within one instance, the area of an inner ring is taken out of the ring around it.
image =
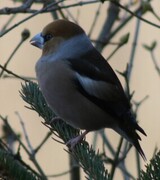
[[[136,130],[141,132],[145,136],[147,135],[145,131],[137,124],[136,121],[125,118],[119,123],[119,127],[115,130],[125,139],[127,139],[131,144],[134,145],[134,147],[137,149],[144,161],[147,160],[139,143],[139,141],[141,141],[141,137],[138,135]]]

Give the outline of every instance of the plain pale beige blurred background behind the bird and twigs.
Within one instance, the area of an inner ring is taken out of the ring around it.
[[[90,4],[87,4],[87,2],[90,2]],[[160,14],[158,14],[160,7],[159,0],[124,0],[120,2],[124,7],[130,9],[132,12],[136,12],[139,7],[143,7],[144,9],[141,8],[142,10],[138,11],[138,15],[142,15],[141,17],[152,23],[158,25],[160,24],[160,19],[158,17],[160,16]],[[29,8],[34,11],[25,13],[17,12],[14,14],[12,11],[11,13],[5,13],[0,10],[1,33],[29,17],[31,14],[35,13],[36,10],[40,10],[42,7],[47,6],[49,1],[46,1],[45,3],[37,1],[32,4],[31,8]],[[72,4],[76,3],[76,6],[71,7]],[[4,9],[5,7],[16,8],[21,5],[21,1],[0,0],[1,9]],[[140,103],[137,111],[137,120],[139,121],[140,126],[143,127],[147,133],[147,137],[141,136],[141,146],[146,154],[148,160],[147,162],[149,162],[155,152],[155,149],[160,148],[159,28],[133,17],[124,26],[122,26],[117,33],[113,34],[113,36],[107,40],[108,36],[115,32],[115,30],[117,30],[118,27],[126,21],[126,19],[130,16],[129,13],[117,5],[112,4],[110,1],[101,3],[100,1],[68,0],[62,1],[58,4],[58,6],[67,5],[69,8],[62,9],[61,11],[57,10],[55,11],[56,13],[39,13],[23,23],[18,24],[15,28],[2,35],[0,39],[0,65],[4,66],[12,52],[20,43],[22,31],[24,29],[28,29],[30,37],[20,45],[19,49],[8,63],[7,69],[21,77],[33,78],[33,81],[36,82],[36,80],[34,80],[35,63],[41,56],[41,51],[30,45],[29,40],[31,37],[38,32],[41,32],[45,25],[52,22],[53,17],[57,17],[58,19],[67,18],[73,22],[77,22],[83,27],[86,33],[89,34],[93,43],[97,46],[97,48],[99,48],[99,51],[102,51],[102,54],[106,59],[112,54],[112,52],[115,51],[113,56],[109,59],[109,63],[116,73],[117,71],[124,72],[127,64],[131,65],[133,60],[132,66],[129,66],[131,67],[129,74],[129,86],[131,93],[134,91],[132,98],[133,108],[135,109],[137,107],[135,106],[136,103]],[[114,13],[119,11],[117,18],[115,18],[114,21],[111,17],[109,17],[109,11],[113,13],[112,18]],[[105,28],[108,28],[105,23],[109,22],[107,18],[110,18],[110,23],[112,23],[112,21],[114,22],[113,25],[110,25],[110,30],[108,29],[110,34],[106,34],[107,30],[105,31]],[[8,25],[5,28],[6,23],[8,23]],[[129,33],[128,41],[116,50],[119,46],[118,43],[121,42],[121,38],[126,37],[127,33]],[[102,47],[101,43],[98,43],[97,40],[104,41],[105,46]],[[0,69],[0,72],[1,70],[2,69]],[[124,88],[126,88],[124,77],[119,73],[117,73],[117,75]],[[12,74],[3,72],[3,75],[1,75],[0,115],[8,118],[8,122],[11,127],[15,130],[15,132],[20,134],[21,140],[26,146],[28,146],[21,123],[23,122],[31,146],[35,148],[41,143],[42,139],[48,133],[48,128],[41,123],[43,119],[41,119],[36,112],[25,107],[26,103],[22,100],[19,93],[21,90],[21,83],[24,83],[24,81],[14,77]],[[142,100],[144,101],[141,103]],[[2,127],[3,121],[0,121],[0,124]],[[2,129],[3,128],[0,130],[1,136],[4,133]],[[105,135],[109,139],[113,148],[116,149],[120,136],[109,129],[105,129]],[[89,144],[93,144],[95,137],[95,132],[92,132],[87,135],[86,140]],[[101,151],[103,149],[102,137],[98,134],[97,138],[95,149],[99,149]],[[17,151],[17,147],[17,144],[13,147],[15,152]],[[64,151],[64,149],[67,148],[64,145],[57,143],[50,137],[37,153],[36,159],[47,175],[56,175],[70,169],[69,155],[66,151]],[[21,154],[23,159],[35,168],[23,148]],[[108,149],[106,149],[106,155],[111,155]],[[131,148],[127,154],[125,162],[128,171],[136,178],[138,177],[138,173],[135,157],[135,149]],[[140,160],[141,168],[145,170],[146,162],[144,162],[141,158]],[[111,166],[106,165],[106,168],[110,171]],[[81,171],[81,179],[85,179],[83,170]],[[115,179],[124,179],[124,176],[119,169],[116,170],[114,177]],[[70,174],[67,173],[66,175],[52,177],[49,179],[69,180]]]

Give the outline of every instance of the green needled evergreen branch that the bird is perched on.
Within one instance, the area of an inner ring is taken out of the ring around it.
[[[56,134],[66,143],[69,139],[79,135],[80,131],[74,129],[62,120],[53,120],[55,114],[48,107],[45,99],[34,82],[26,82],[22,85],[21,96],[30,105],[30,109],[35,110],[43,119],[44,124],[51,132]],[[74,112],[73,112],[74,113]],[[109,180],[108,171],[105,169],[103,161],[98,152],[95,152],[88,143],[83,140],[74,149],[68,151],[80,164],[88,177],[94,180]]]

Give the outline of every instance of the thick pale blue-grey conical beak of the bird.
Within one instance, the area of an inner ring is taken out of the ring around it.
[[[38,33],[37,35],[35,35],[31,40],[30,43],[33,46],[36,46],[37,48],[43,49],[43,45],[44,45],[44,39],[41,33]]]

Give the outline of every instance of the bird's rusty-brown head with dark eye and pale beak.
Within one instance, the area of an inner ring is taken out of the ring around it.
[[[81,34],[85,32],[77,24],[67,20],[56,20],[44,27],[43,31],[35,35],[30,43],[42,49],[45,55],[56,51],[63,42]]]

